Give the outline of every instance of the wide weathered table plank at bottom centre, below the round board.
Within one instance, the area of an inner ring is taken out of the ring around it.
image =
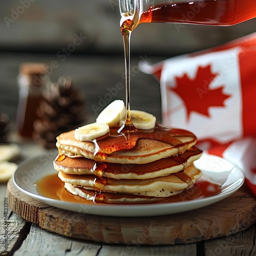
[[[100,245],[96,243],[79,241],[63,237],[32,224],[31,230],[22,246],[13,254],[14,256],[40,255],[86,255],[86,256],[139,256],[139,255],[191,255],[196,256],[196,244],[171,245],[171,246],[142,246],[142,245]]]

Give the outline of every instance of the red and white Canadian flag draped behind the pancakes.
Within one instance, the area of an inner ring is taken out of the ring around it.
[[[160,81],[163,123],[238,164],[256,195],[256,33],[140,67]]]

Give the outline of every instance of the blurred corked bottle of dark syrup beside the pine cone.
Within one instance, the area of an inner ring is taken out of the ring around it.
[[[50,81],[46,68],[44,63],[34,62],[24,62],[19,66],[16,127],[19,135],[25,138],[32,138],[36,109],[42,99],[42,90]]]

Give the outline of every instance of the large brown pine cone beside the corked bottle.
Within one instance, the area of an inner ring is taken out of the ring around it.
[[[60,77],[43,97],[36,112],[33,138],[46,148],[53,148],[57,135],[84,123],[84,96],[73,86],[71,78]]]

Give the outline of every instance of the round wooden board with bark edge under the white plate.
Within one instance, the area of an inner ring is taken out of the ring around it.
[[[7,185],[10,208],[27,221],[64,236],[128,245],[190,243],[228,236],[256,222],[254,196],[243,185],[213,205],[182,214],[157,217],[105,217],[52,207]]]

